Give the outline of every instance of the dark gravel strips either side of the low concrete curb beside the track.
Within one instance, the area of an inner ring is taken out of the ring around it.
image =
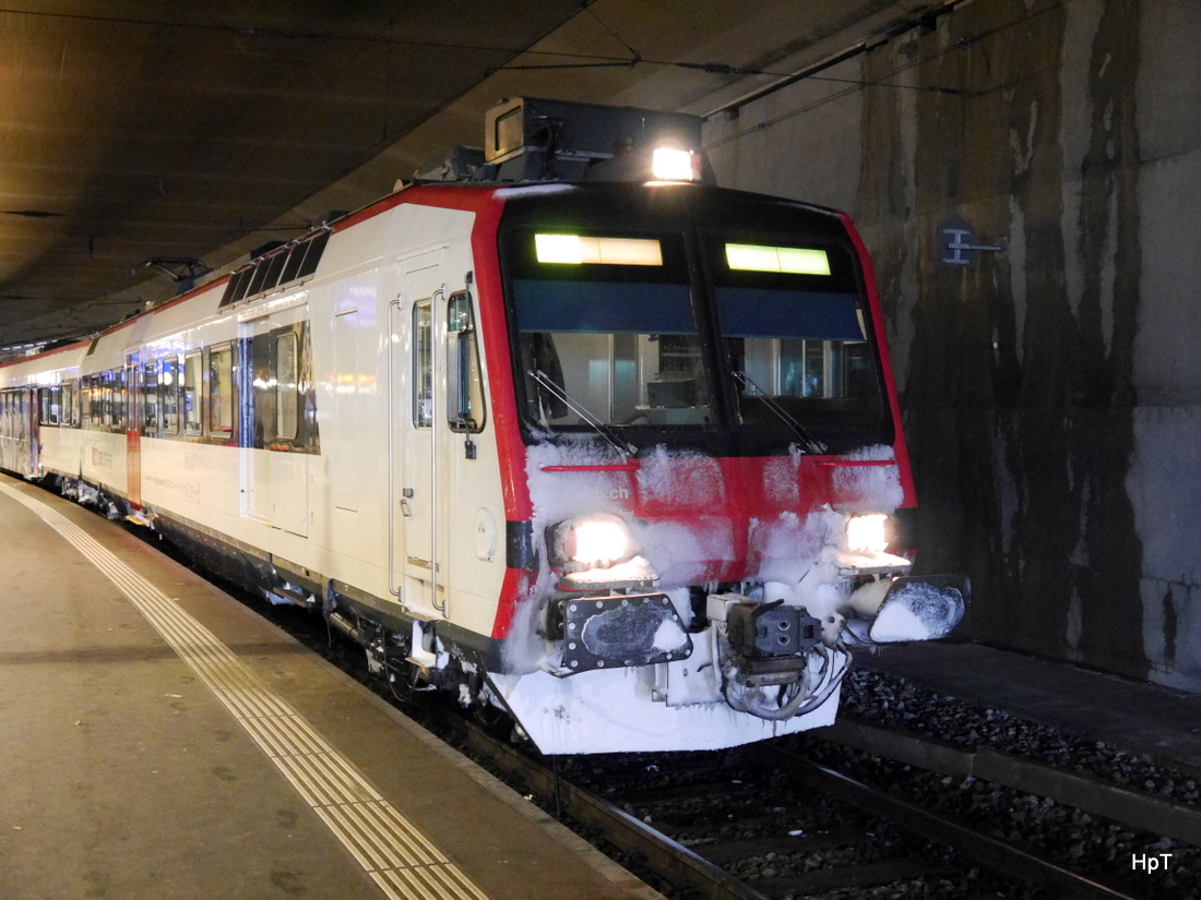
[[[1189,773],[1104,742],[928,691],[888,673],[849,672],[839,715],[916,732],[964,750],[988,746],[1176,803],[1197,802],[1197,784]],[[1135,896],[1201,900],[1201,848],[1193,845],[990,781],[925,772],[814,737],[801,737],[797,744],[809,758],[898,791],[1000,840],[1029,846],[1066,868],[1123,886]],[[1143,856],[1166,859],[1166,866],[1158,872],[1135,871],[1133,859]],[[930,894],[919,890],[912,895]],[[871,894],[848,893],[838,900],[865,896]]]

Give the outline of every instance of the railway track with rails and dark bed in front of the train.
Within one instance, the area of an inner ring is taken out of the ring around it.
[[[650,870],[661,890],[689,900],[880,887],[892,887],[891,895],[962,896],[966,884],[974,896],[1006,900],[1131,896],[787,751],[691,754],[710,758],[687,773],[677,768],[668,787],[655,786],[657,772],[631,778],[621,772],[627,763],[607,761],[586,778],[626,784],[602,797],[572,780],[582,774],[578,764],[556,774],[477,728],[467,743],[593,842],[644,876]],[[671,762],[683,764],[676,756]],[[634,766],[662,764],[650,758]],[[973,871],[981,868],[996,875]]]

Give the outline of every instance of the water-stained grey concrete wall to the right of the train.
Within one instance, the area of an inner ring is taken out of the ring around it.
[[[1201,4],[975,0],[710,121],[872,250],[925,571],[988,643],[1201,690]],[[961,251],[944,229],[970,228]]]

